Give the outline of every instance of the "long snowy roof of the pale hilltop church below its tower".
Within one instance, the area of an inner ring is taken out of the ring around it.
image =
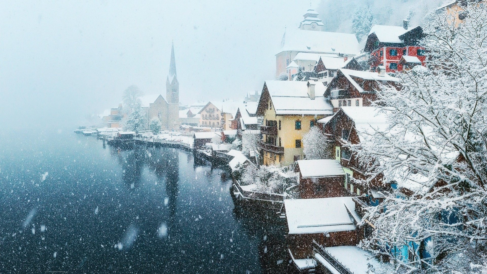
[[[356,54],[360,51],[355,34],[301,29],[286,30],[281,45],[280,52]]]

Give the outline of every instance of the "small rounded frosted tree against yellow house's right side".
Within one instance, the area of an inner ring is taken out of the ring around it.
[[[331,142],[326,141],[318,127],[312,127],[303,138],[303,152],[308,160],[331,159]]]

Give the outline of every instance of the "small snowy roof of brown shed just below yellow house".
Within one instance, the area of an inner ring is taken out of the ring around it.
[[[299,160],[298,166],[303,178],[345,176],[340,162],[335,159]]]

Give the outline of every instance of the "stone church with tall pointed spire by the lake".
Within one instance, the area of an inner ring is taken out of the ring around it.
[[[176,59],[174,43],[171,48],[169,75],[166,79],[166,99],[159,95],[149,104],[149,123],[153,118],[161,121],[161,129],[179,129],[179,82],[176,76]]]

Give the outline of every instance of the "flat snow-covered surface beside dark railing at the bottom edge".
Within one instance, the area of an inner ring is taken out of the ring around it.
[[[341,265],[348,268],[353,274],[367,274],[368,264],[371,264],[375,269],[383,268],[372,253],[356,246],[326,247],[325,251],[334,256]]]

